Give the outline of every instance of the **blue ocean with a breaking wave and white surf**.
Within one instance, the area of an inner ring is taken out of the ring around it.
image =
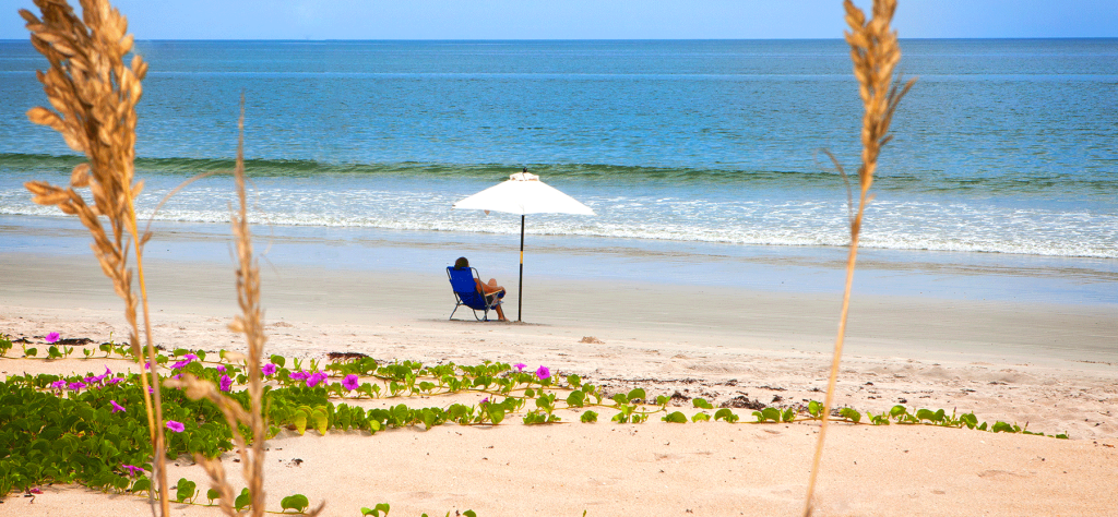
[[[1118,304],[1118,39],[901,48],[918,80],[881,156],[868,267],[915,270],[932,288],[950,270],[963,290],[977,268],[1013,277],[1014,294],[966,296]],[[519,218],[451,205],[528,167],[597,214],[532,216],[530,246],[628,257],[601,275],[632,257],[685,257],[662,269],[711,284],[746,262],[835,269],[850,240],[846,188],[822,152],[858,169],[862,108],[841,40],[139,41],[136,52],[150,64],[139,208],[167,231],[225,231],[227,176],[152,210],[192,175],[231,167],[244,95],[253,221],[273,236],[519,243]],[[27,122],[46,104],[45,65],[28,42],[0,41],[8,248],[73,227],[22,188],[65,183],[80,161]],[[1039,277],[1059,286],[1030,284]]]

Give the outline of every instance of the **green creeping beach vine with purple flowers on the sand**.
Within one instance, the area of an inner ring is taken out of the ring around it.
[[[0,345],[10,343],[4,336]],[[0,346],[7,353],[11,347]],[[107,358],[131,358],[127,347],[84,347],[105,352]],[[116,354],[116,356],[114,356]],[[123,354],[123,355],[120,355]],[[49,361],[31,355],[26,361]],[[209,361],[207,361],[209,360]],[[209,399],[193,400],[173,381],[191,377],[211,384],[243,408],[249,405],[247,366],[238,354],[179,348],[160,353],[155,361],[168,366],[161,377],[165,420],[167,458],[195,457],[216,459],[234,450],[233,430],[221,408]],[[86,360],[82,360],[86,361]],[[290,367],[288,367],[290,366]],[[399,428],[432,429],[436,425],[501,425],[510,417],[523,424],[567,423],[558,412],[580,412],[579,421],[593,423],[598,412],[613,412],[615,423],[641,424],[660,415],[669,423],[724,422],[727,424],[771,424],[822,421],[824,405],[818,401],[787,406],[769,406],[746,414],[729,408],[714,410],[703,399],[692,399],[690,418],[669,409],[667,395],[651,398],[644,389],[607,396],[599,386],[578,375],[553,375],[541,366],[484,362],[479,365],[424,365],[404,361],[379,363],[371,357],[356,357],[320,363],[273,355],[260,367],[266,380],[262,398],[265,411],[263,438],[281,432],[299,434],[331,431],[363,431],[368,435]],[[46,484],[78,484],[116,494],[145,495],[151,490],[153,450],[150,442],[140,375],[113,373],[108,366],[101,374],[12,375],[0,382],[0,494],[27,491]],[[476,404],[451,403],[417,406],[418,400],[476,393],[485,395]],[[394,401],[387,408],[366,409],[362,401]],[[713,414],[711,414],[713,412]],[[608,413],[607,413],[608,414]],[[956,414],[894,405],[881,413],[853,408],[833,411],[827,419],[862,425],[938,425],[989,432],[1034,433],[1015,423],[979,422],[973,413]],[[690,422],[689,422],[690,421]],[[244,425],[239,431],[255,443]],[[1057,434],[1054,438],[1068,438]],[[221,495],[203,492],[193,481],[180,479],[170,499],[193,505],[216,505]],[[203,502],[203,496],[206,502]],[[215,502],[217,501],[217,502]],[[231,506],[250,505],[244,488]],[[302,514],[310,504],[303,495],[280,500],[281,511]],[[381,510],[387,513],[387,506]],[[377,515],[377,514],[364,514]],[[383,514],[380,514],[383,515]]]

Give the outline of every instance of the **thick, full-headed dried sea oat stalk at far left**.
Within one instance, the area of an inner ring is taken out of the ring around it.
[[[93,236],[93,253],[102,270],[113,281],[116,294],[124,300],[124,315],[132,327],[132,353],[142,357],[136,304],[143,306],[148,360],[151,382],[140,375],[148,427],[153,448],[154,477],[159,485],[162,514],[168,515],[165,441],[158,364],[151,343],[148,296],[143,260],[136,232],[135,198],[143,182],[133,182],[135,159],[136,103],[143,89],[140,82],[148,65],[133,56],[133,38],[127,35],[127,20],[106,0],[82,0],[82,17],[66,0],[35,0],[42,18],[21,9],[20,16],[31,32],[31,44],[50,64],[46,73],[37,71],[47,99],[55,111],[34,107],[27,112],[32,123],[51,127],[63,135],[74,151],[84,153],[88,162],[74,167],[67,186],[31,181],[25,186],[39,204],[54,204],[65,213],[77,216]],[[93,204],[76,189],[89,189]],[[102,224],[108,222],[108,230]],[[135,250],[136,279],[140,297],[132,290],[129,269],[130,246]],[[154,396],[149,394],[152,386]],[[152,502],[154,513],[154,502]]]

